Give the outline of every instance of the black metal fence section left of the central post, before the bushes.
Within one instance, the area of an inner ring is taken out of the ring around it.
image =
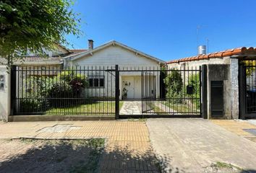
[[[14,115],[115,115],[114,67],[15,67]]]

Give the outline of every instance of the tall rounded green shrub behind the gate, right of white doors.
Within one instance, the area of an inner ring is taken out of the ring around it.
[[[164,79],[167,98],[181,98],[183,95],[182,75],[179,71],[171,71]],[[171,99],[170,102],[181,103],[182,99]]]

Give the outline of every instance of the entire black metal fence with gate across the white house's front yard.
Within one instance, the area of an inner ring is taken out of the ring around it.
[[[17,66],[12,107],[14,115],[202,117],[201,81],[200,66]]]

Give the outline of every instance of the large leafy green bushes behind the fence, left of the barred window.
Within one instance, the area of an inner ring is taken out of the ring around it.
[[[29,98],[21,102],[23,110],[46,110],[48,107],[72,105],[74,98],[83,97],[82,90],[88,86],[87,76],[74,74],[72,71],[61,72],[55,77],[30,76],[23,81],[23,97]]]

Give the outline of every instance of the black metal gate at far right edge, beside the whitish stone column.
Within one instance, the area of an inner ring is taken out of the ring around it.
[[[240,61],[240,117],[256,118],[256,60]]]

